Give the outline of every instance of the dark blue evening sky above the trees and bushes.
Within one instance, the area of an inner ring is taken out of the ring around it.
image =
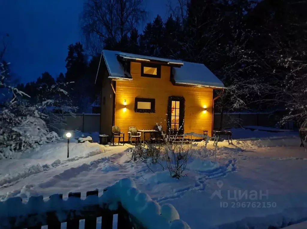
[[[148,20],[168,16],[167,0],[146,0]],[[0,34],[9,33],[5,59],[22,83],[35,81],[48,71],[66,72],[71,43],[82,41],[79,17],[83,0],[0,0]]]

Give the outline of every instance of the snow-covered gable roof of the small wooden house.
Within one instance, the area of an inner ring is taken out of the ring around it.
[[[109,72],[109,78],[111,79],[133,80],[130,73],[125,71],[119,59],[140,62],[161,62],[163,65],[173,66],[173,77],[177,85],[225,88],[224,84],[203,64],[130,54],[120,51],[103,50],[102,53]]]

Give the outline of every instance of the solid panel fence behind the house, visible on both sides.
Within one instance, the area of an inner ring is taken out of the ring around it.
[[[268,113],[228,113],[223,115],[223,128],[241,127],[241,126],[269,126],[274,127],[282,117],[283,112]],[[64,115],[67,125],[66,130],[80,130],[84,133],[99,132],[100,114],[76,114]],[[214,114],[214,129],[220,128],[221,114]],[[293,126],[284,126],[286,129],[292,129]],[[62,129],[62,128],[60,128]]]

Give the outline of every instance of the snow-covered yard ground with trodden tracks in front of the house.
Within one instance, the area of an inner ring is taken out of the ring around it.
[[[132,178],[159,204],[172,204],[192,229],[268,228],[307,220],[307,152],[299,147],[297,134],[231,131],[234,145],[219,142],[216,162],[204,160],[196,150],[180,180],[157,165],[151,167],[153,173],[145,164],[128,162],[129,145],[73,141],[67,159],[65,140],[46,144],[18,159],[0,160],[0,200],[21,196],[27,201],[31,195],[48,199],[53,193],[67,198],[76,191],[85,198],[86,191],[102,191]]]

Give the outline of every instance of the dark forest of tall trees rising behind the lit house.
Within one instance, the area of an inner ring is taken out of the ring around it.
[[[177,0],[169,2],[165,21],[157,15],[139,31],[149,10],[144,0],[85,0],[84,41],[69,45],[67,72],[56,79],[45,72],[17,88],[35,102],[39,85],[73,81],[67,88],[73,105],[87,112],[100,93],[95,77],[104,48],[203,63],[227,87],[217,111],[288,109],[284,121],[301,121],[307,114],[306,6],[289,0]]]

